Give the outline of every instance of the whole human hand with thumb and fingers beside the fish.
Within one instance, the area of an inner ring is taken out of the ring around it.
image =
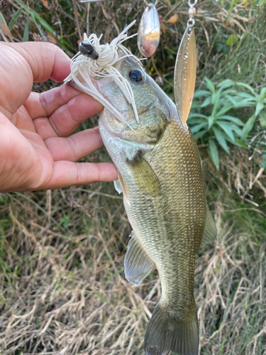
[[[102,105],[69,84],[31,92],[33,82],[64,80],[70,62],[51,43],[0,43],[1,192],[117,179],[112,163],[75,163],[103,146],[98,127],[70,136]]]

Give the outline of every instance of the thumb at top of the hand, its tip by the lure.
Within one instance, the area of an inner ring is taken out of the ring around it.
[[[33,82],[49,77],[62,81],[70,73],[70,58],[52,43],[0,43],[0,107],[11,116],[26,101]]]

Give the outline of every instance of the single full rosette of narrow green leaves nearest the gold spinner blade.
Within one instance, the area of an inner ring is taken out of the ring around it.
[[[244,124],[237,117],[228,114],[235,107],[229,98],[237,95],[232,88],[233,82],[223,80],[218,87],[215,87],[211,80],[205,78],[205,81],[206,89],[196,91],[194,94],[188,123],[194,138],[201,138],[201,141],[208,144],[209,156],[218,169],[219,154],[216,143],[228,154],[230,149],[227,142],[235,146],[243,146],[240,139],[243,138],[241,127]]]

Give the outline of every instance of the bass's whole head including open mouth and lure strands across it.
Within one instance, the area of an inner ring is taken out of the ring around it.
[[[130,141],[155,143],[168,122],[178,119],[172,99],[148,75],[135,55],[118,49],[116,61],[107,73],[105,68],[98,72],[90,69],[100,60],[101,54],[96,60],[81,56],[81,65],[72,70],[72,80],[68,81],[104,104],[100,120],[109,132]]]

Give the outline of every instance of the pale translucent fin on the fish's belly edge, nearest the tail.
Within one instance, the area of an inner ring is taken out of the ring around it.
[[[126,279],[134,285],[139,285],[150,271],[153,270],[153,262],[143,250],[138,239],[131,233],[128,243],[128,251],[124,261]]]

